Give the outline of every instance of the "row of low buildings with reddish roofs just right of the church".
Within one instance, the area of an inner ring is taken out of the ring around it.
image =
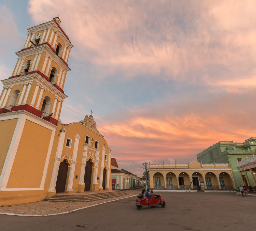
[[[126,190],[143,186],[142,178],[125,170],[118,169],[115,158],[111,158],[112,190]]]

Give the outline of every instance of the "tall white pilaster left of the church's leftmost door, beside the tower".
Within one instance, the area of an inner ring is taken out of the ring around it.
[[[49,193],[56,192],[55,187],[56,187],[56,181],[57,181],[57,176],[59,171],[59,164],[61,160],[61,154],[62,154],[63,144],[65,140],[65,135],[66,135],[66,130],[63,127],[60,130],[59,142],[57,146],[56,156],[54,158],[53,174],[52,174],[50,188],[48,190]]]

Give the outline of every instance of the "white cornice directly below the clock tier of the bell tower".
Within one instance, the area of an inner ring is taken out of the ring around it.
[[[26,50],[21,50],[16,52],[15,54],[20,58],[24,56],[34,55],[35,53],[43,51],[45,51],[47,55],[53,58],[53,60],[59,65],[60,68],[62,68],[66,72],[70,71],[70,68],[57,56],[57,54],[47,44],[43,44],[37,47],[31,47]]]

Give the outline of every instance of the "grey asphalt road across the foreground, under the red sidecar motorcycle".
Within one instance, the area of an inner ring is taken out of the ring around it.
[[[156,193],[157,194],[157,193]],[[22,217],[0,215],[0,230],[251,230],[256,197],[234,193],[161,193],[166,207],[137,210],[136,197],[76,212]]]

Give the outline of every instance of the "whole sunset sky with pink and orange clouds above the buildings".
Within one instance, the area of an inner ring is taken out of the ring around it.
[[[5,55],[26,31],[3,7]],[[30,0],[26,10],[26,28],[59,14],[74,45],[62,122],[93,109],[120,168],[141,175],[143,161],[186,163],[219,140],[256,136],[254,0]],[[9,42],[10,31],[22,35]],[[9,63],[0,60],[2,79]]]

